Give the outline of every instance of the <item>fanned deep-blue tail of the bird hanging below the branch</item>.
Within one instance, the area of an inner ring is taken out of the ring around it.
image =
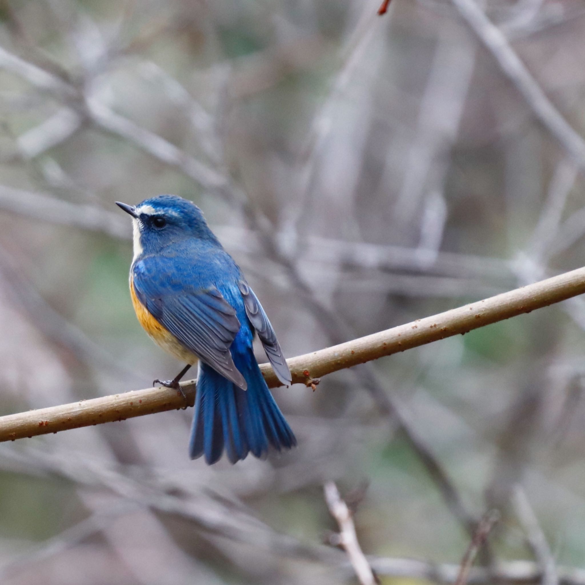
[[[246,378],[247,390],[199,362],[189,454],[191,459],[205,454],[209,465],[221,457],[224,447],[230,462],[236,463],[249,452],[265,457],[269,445],[278,451],[297,445],[266,386],[252,348],[246,353],[232,352],[232,356]]]

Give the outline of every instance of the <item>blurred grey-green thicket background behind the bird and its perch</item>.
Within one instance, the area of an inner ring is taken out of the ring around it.
[[[116,200],[204,209],[289,357],[583,264],[583,3],[378,6],[0,4],[1,414],[180,369]],[[577,298],[278,388],[298,448],[236,466],[191,409],[4,443],[0,579],[355,583],[333,480],[383,583],[452,582],[493,508],[474,583],[585,583],[584,353]]]

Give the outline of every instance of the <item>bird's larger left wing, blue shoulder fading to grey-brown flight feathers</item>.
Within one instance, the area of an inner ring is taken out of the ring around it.
[[[188,288],[181,283],[178,287],[164,271],[149,268],[144,261],[133,267],[140,302],[202,362],[246,390],[246,380],[229,351],[240,329],[235,309],[215,286]]]

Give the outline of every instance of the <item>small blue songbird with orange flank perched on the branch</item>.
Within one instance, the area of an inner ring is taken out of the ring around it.
[[[283,384],[291,374],[264,309],[238,264],[223,249],[191,201],[159,195],[132,206],[134,259],[130,295],[140,324],[187,366],[199,362],[189,453],[215,463],[225,447],[230,462],[249,452],[266,456],[297,444],[254,357],[257,333]]]

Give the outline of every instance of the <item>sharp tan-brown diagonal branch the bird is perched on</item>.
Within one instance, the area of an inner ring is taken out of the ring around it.
[[[317,352],[287,360],[293,384],[308,387],[318,384],[318,378],[334,371],[370,362],[379,357],[404,352],[464,334],[510,317],[548,307],[585,292],[585,268],[559,274],[552,278],[517,288],[510,292],[473,302],[438,315],[417,319],[359,339],[354,339]],[[270,388],[281,386],[268,364],[261,370]],[[195,400],[195,380],[181,385],[187,395],[187,405]],[[154,412],[183,408],[180,393],[169,388],[146,388],[128,393],[94,398],[0,417],[0,442],[14,441],[35,435],[56,433],[67,429],[122,421]]]

